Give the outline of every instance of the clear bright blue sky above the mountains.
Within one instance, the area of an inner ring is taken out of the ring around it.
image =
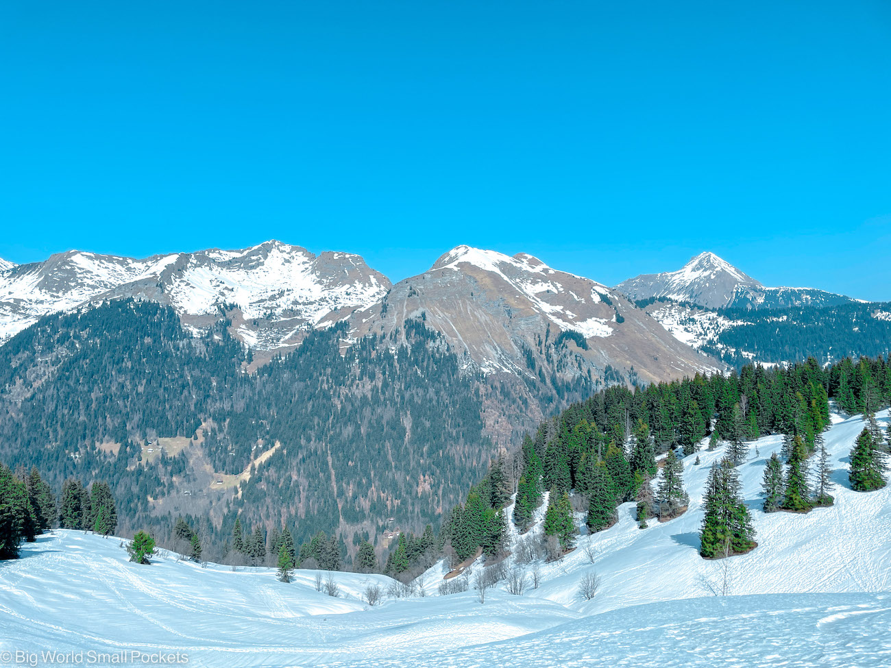
[[[891,3],[0,4],[0,257],[710,249],[891,299]]]

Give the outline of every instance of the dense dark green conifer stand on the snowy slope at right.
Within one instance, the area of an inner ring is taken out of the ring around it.
[[[823,483],[813,490],[806,486],[805,470],[805,460],[821,452],[822,431],[830,425],[830,398],[843,411],[874,414],[891,403],[891,364],[879,356],[846,358],[824,367],[809,358],[788,367],[749,364],[726,375],[697,374],[645,388],[609,387],[545,420],[535,437],[524,440],[511,460],[512,475],[504,476],[516,492],[513,522],[525,532],[547,494],[545,535],[554,537],[554,551],[571,547],[574,510],[585,512],[591,531],[615,523],[617,506],[625,501],[637,501],[642,525],[649,517],[676,517],[687,504],[678,456],[726,442],[727,459],[709,481],[714,499],[707,504],[712,538],[703,543],[703,554],[747,550],[754,544],[753,533],[748,512],[737,497],[739,484],[732,469],[745,459],[747,442],[784,434],[789,470],[772,473],[780,481],[770,495],[777,509],[801,511],[830,503],[826,465],[818,465],[817,477]],[[868,436],[869,442],[865,436],[858,442],[857,451],[864,453],[860,460],[866,463],[859,468],[865,472],[854,476],[874,487],[879,484],[875,462],[880,457],[873,444],[878,437]],[[666,460],[660,469],[661,454]],[[498,480],[503,470],[503,463],[493,464],[483,483],[470,490],[444,526],[446,548],[454,550],[457,559],[497,551],[493,536],[501,532],[499,517],[509,500],[492,493],[491,480]],[[650,481],[657,476],[654,490]],[[735,536],[729,547],[723,543],[727,531]]]

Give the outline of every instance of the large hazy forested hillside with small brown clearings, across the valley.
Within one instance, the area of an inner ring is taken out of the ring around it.
[[[191,516],[217,556],[239,511],[295,540],[437,524],[489,460],[488,390],[422,322],[344,351],[345,325],[314,331],[254,375],[227,324],[192,337],[132,300],[45,317],[0,348],[0,460],[109,481],[124,532]]]

